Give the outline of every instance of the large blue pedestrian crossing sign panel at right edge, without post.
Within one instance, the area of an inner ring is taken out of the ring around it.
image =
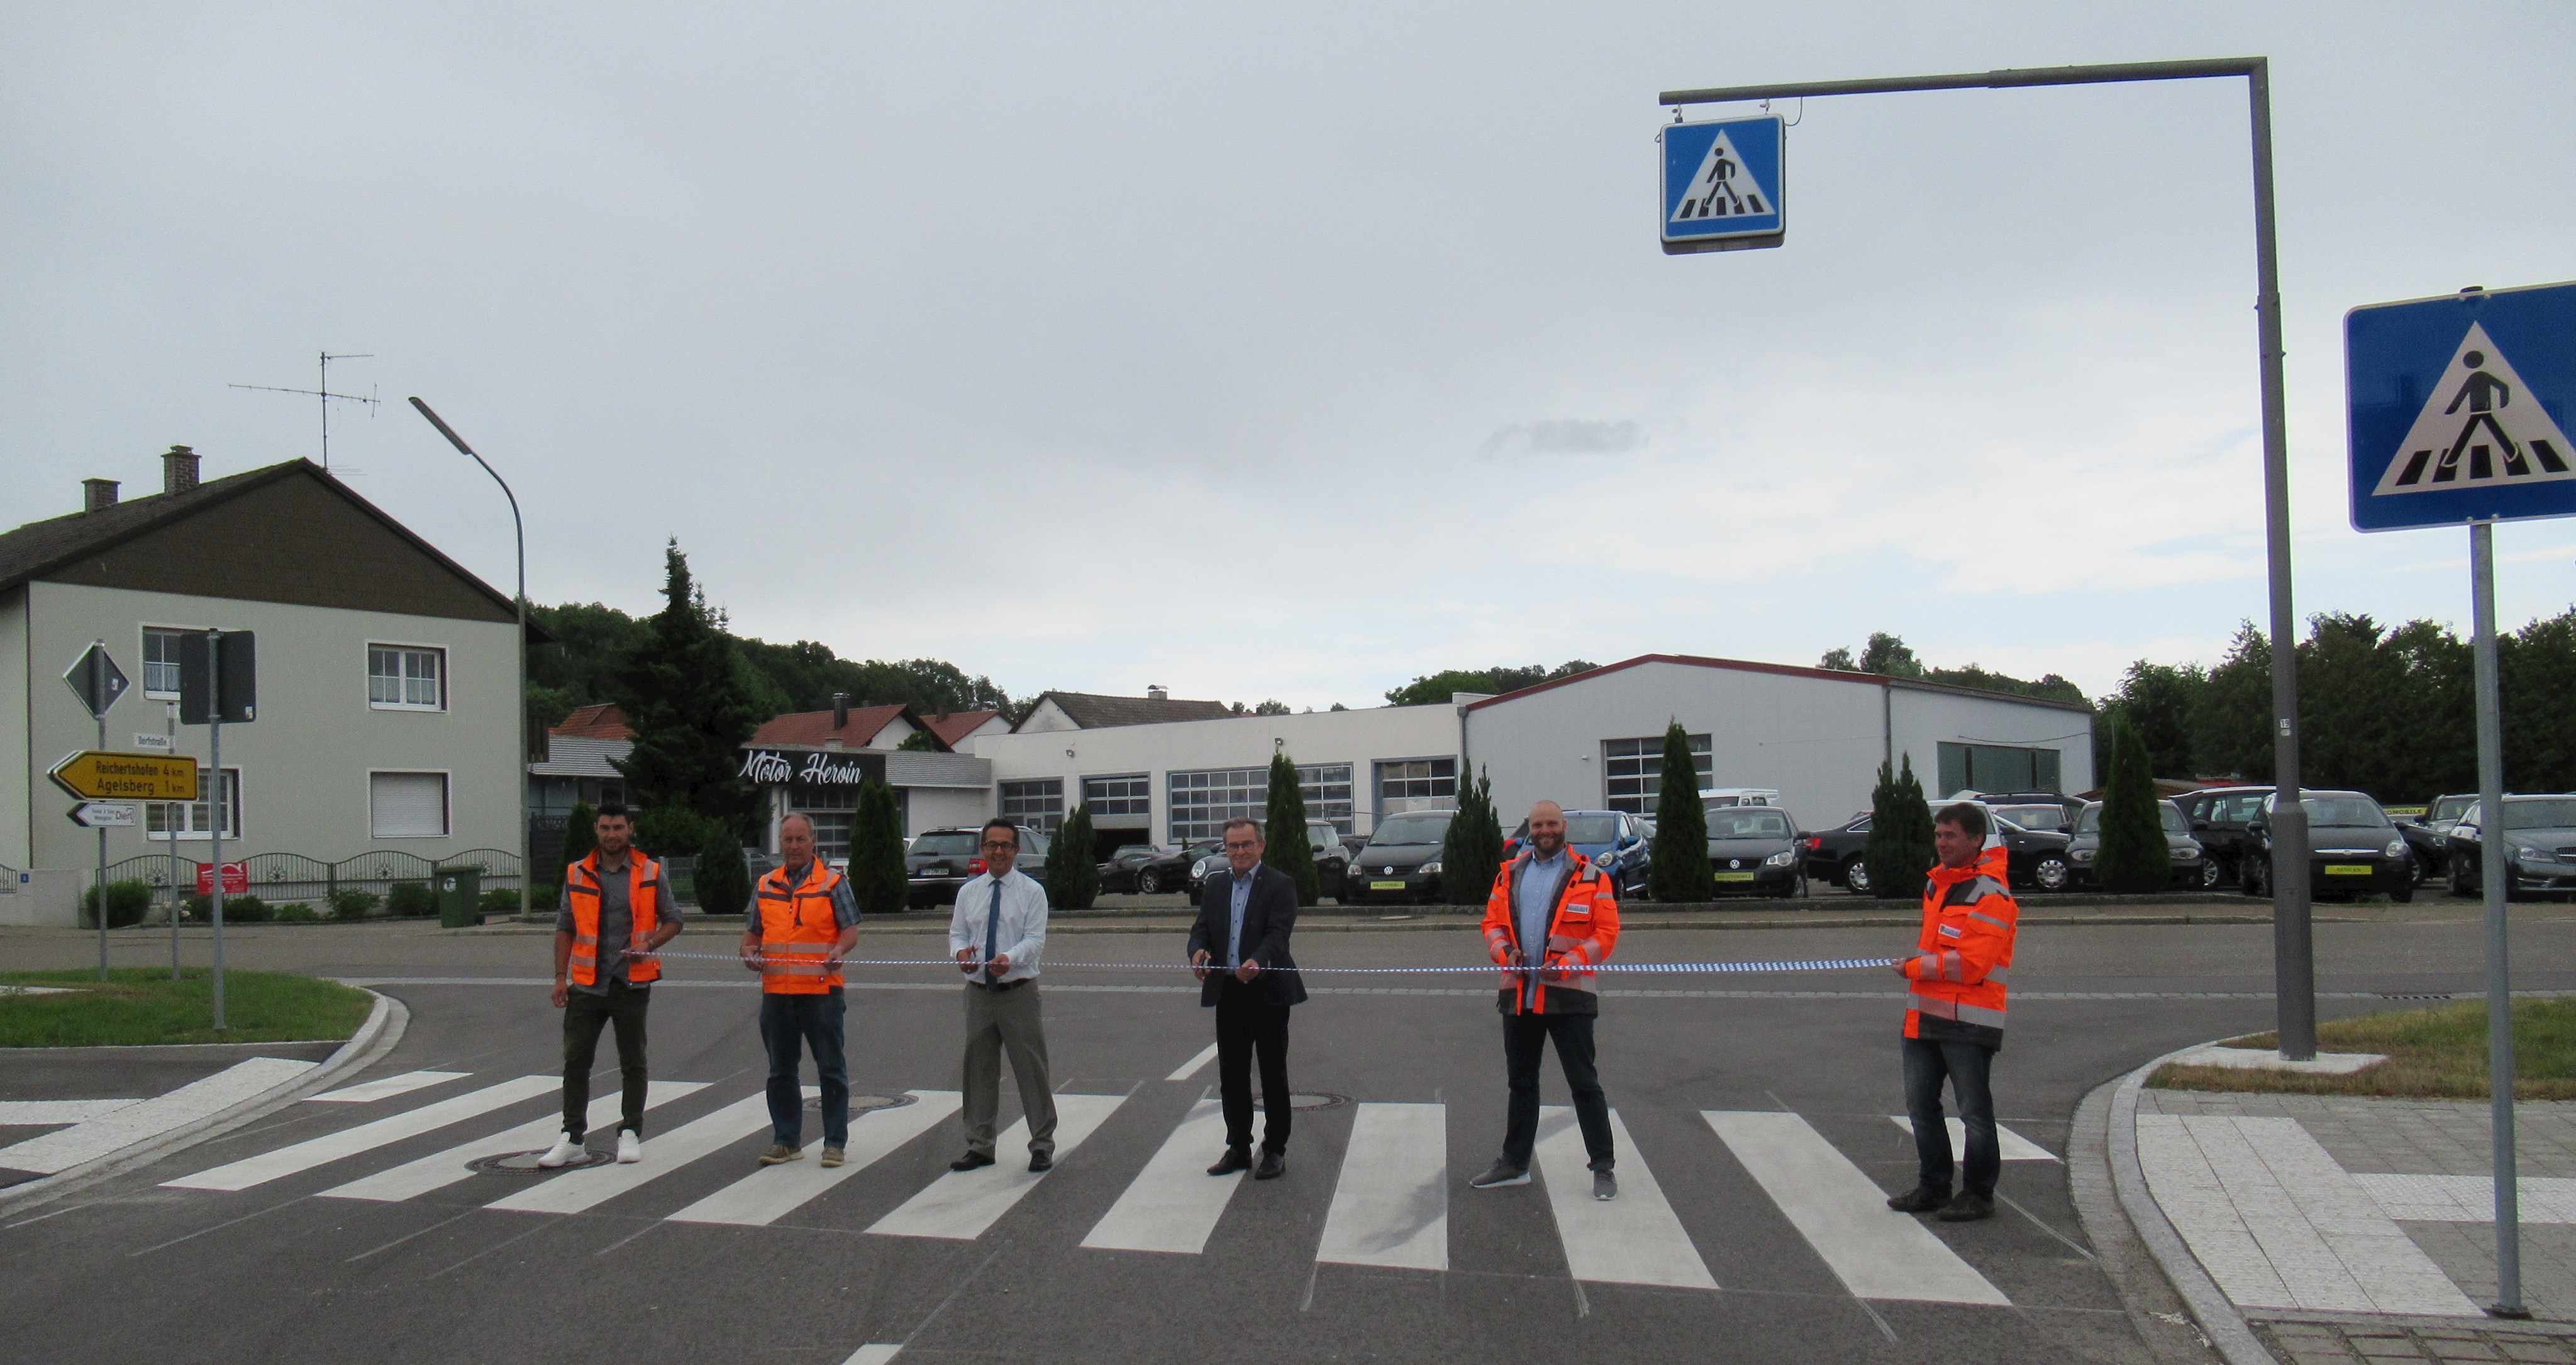
[[[2576,515],[2576,283],[2344,314],[2352,528]]]

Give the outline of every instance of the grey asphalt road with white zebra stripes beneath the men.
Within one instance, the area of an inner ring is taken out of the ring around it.
[[[1631,932],[1620,961],[1891,956],[1904,930]],[[683,961],[654,989],[672,1082],[647,1162],[477,1174],[544,1146],[559,1069],[541,937],[435,968],[350,963],[410,1033],[353,1082],[0,1221],[5,1355],[131,1360],[2156,1360],[2061,1162],[2079,1100],[2164,1051],[2267,1028],[2269,925],[2027,927],[1996,1059],[2007,1144],[1989,1223],[1875,1210],[1911,1182],[1901,1002],[1883,971],[1641,976],[1600,1020],[1618,1203],[1551,1110],[1540,1180],[1468,1190],[1502,1138],[1489,976],[1316,976],[1306,1092],[1275,1182],[1211,1180],[1211,1012],[1180,935],[1059,935],[1043,986],[1064,1128],[1043,1180],[951,1177],[961,986],[860,971],[853,1164],[762,1172],[757,989]],[[675,950],[724,953],[732,932]],[[322,943],[322,940],[307,940]],[[935,937],[871,935],[925,958]],[[2473,914],[2321,925],[2324,1015],[2476,992]],[[1476,963],[1471,932],[1314,935],[1314,966]],[[2517,984],[2576,986],[2576,917],[2532,907]],[[438,1077],[420,1077],[438,1071]],[[811,1071],[804,1077],[811,1084]],[[603,1038],[595,1095],[613,1105]],[[1564,1084],[1548,1061],[1548,1102]],[[1005,1123],[1015,1120],[1005,1084]],[[811,1118],[811,1115],[809,1115]],[[613,1123],[613,1120],[611,1120]],[[806,1141],[819,1131],[809,1123]],[[837,1180],[824,1180],[835,1174]]]

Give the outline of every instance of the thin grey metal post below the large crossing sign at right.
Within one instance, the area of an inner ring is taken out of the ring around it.
[[[2468,528],[2468,598],[2476,618],[2478,685],[2478,889],[2486,891],[2486,1087],[2496,1159],[2496,1303],[2499,1319],[2527,1319],[2522,1306],[2522,1182],[2514,1162],[2514,974],[2506,961],[2504,904],[2504,708],[2496,688],[2496,525]]]

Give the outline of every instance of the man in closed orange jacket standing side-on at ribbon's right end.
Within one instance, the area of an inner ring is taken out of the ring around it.
[[[1914,1120],[1914,1187],[1888,1198],[1899,1213],[1935,1213],[1945,1223],[1994,1218],[1994,1177],[2002,1154],[1994,1141],[1994,1053],[2004,1046],[2004,979],[2012,976],[2012,935],[2022,907],[2004,876],[2004,845],[1986,809],[1973,801],[1942,806],[1932,816],[1932,852],[1940,865],[1924,881],[1924,927],[1914,956],[1896,963],[1906,979],[1906,1115]],[[1940,1113],[1940,1082],[1958,1097],[1968,1131],[1958,1198],[1950,1198],[1950,1125]]]

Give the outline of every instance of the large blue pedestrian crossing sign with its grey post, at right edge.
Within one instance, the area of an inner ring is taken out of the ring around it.
[[[2496,523],[2576,515],[2576,283],[2463,288],[2344,314],[2352,528],[2468,523],[2476,618],[2478,886],[2486,891],[2486,1079],[2496,1164],[2499,1319],[2522,1303],[2514,1159],[2512,868],[2504,860],[2504,708],[2496,685]]]

